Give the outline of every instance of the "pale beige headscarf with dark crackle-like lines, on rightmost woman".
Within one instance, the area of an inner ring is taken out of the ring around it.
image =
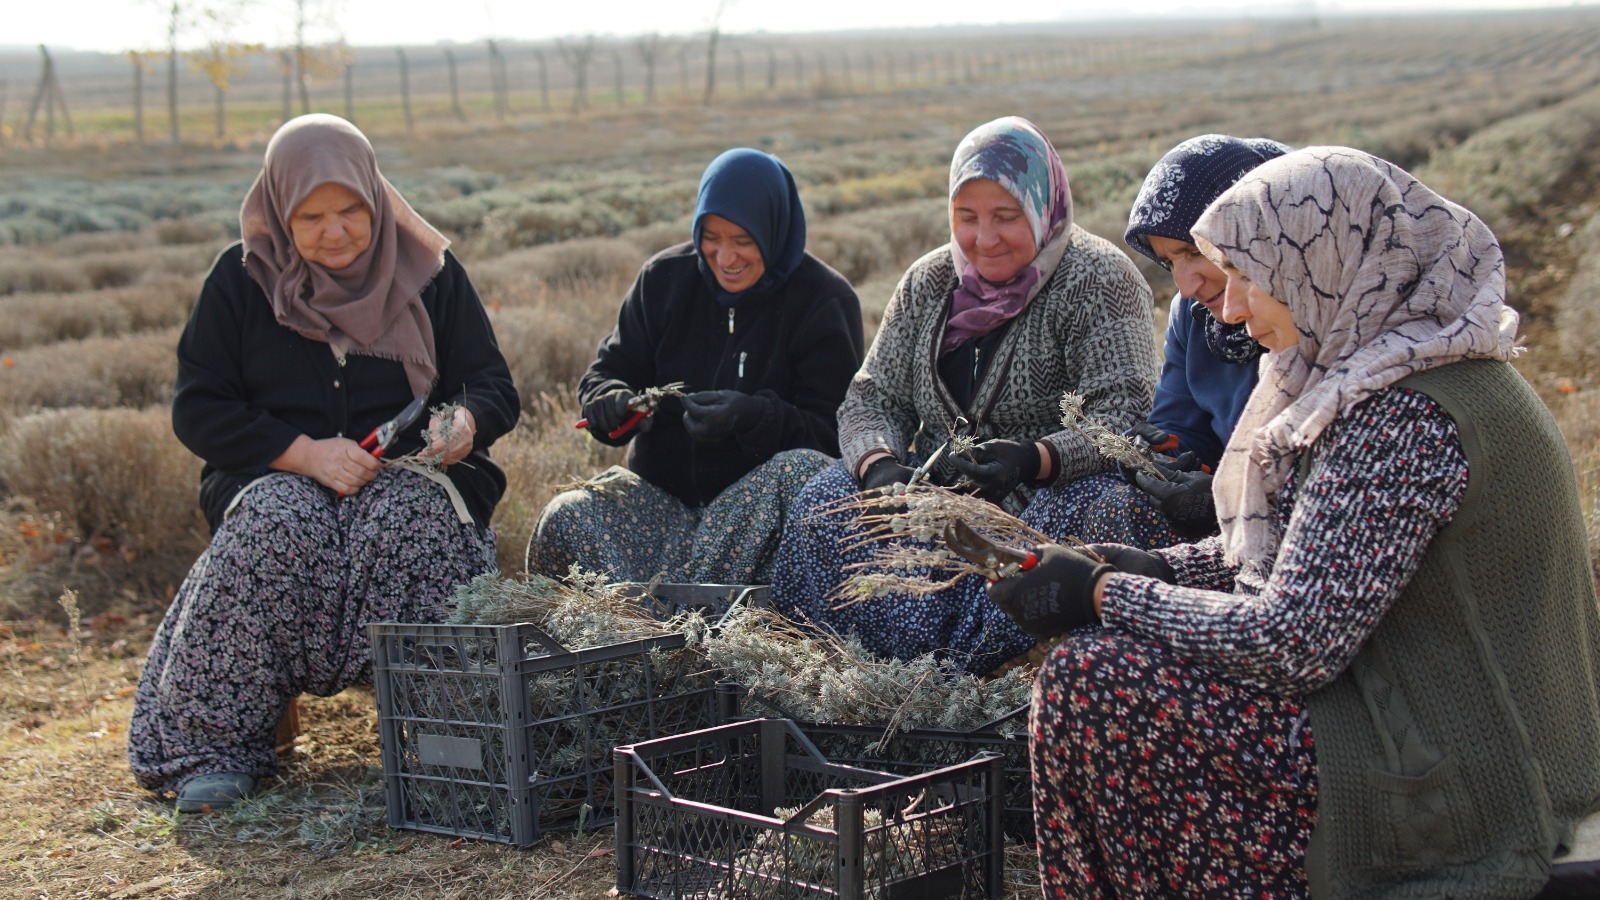
[[[1296,346],[1262,356],[1218,468],[1232,564],[1275,556],[1274,498],[1342,410],[1416,372],[1517,352],[1494,234],[1371,154],[1306,147],[1262,163],[1194,235],[1211,261],[1288,304],[1299,331]]]

